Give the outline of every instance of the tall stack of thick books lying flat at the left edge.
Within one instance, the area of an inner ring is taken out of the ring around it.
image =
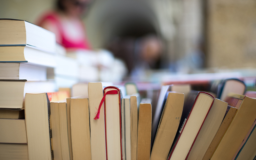
[[[54,92],[55,35],[24,20],[0,19],[1,159],[28,159],[24,97]]]

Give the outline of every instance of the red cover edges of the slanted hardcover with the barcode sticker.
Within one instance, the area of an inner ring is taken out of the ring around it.
[[[199,96],[200,93],[205,93],[205,94],[210,95],[210,96],[213,98],[213,101],[212,101],[212,104],[213,104],[213,102],[214,102],[214,97],[213,97],[210,93],[207,93],[207,92],[198,92],[198,94],[197,94],[197,96],[196,96],[196,99],[195,99],[195,102],[196,102],[196,100],[197,100],[197,98],[198,98],[198,96]],[[190,112],[189,112],[189,114],[188,114],[188,118],[189,118],[189,116],[190,116],[190,114],[191,114],[191,111],[193,110],[193,108],[194,108],[194,106],[195,106],[195,102],[194,102],[193,107],[191,108],[191,110],[190,110]],[[212,108],[212,104],[211,104],[211,106],[210,106],[210,108],[209,108],[209,110],[208,110],[206,116],[204,117],[204,121],[205,121],[205,119],[206,119],[206,117],[207,117],[207,115],[208,115],[210,109]],[[180,132],[180,135],[182,134],[182,132],[183,132],[183,130],[184,130],[184,127],[185,127],[185,125],[186,125],[187,122],[188,122],[188,118],[187,118],[187,120],[186,120],[186,122],[185,122],[185,124],[184,124],[184,126],[183,126],[182,131]],[[190,149],[189,149],[189,151],[188,151],[188,154],[187,154],[185,160],[188,159],[188,155],[189,155],[189,153],[190,153],[190,151],[191,151],[191,149],[192,149],[192,147],[193,147],[193,145],[194,145],[194,143],[195,143],[195,141],[196,141],[196,138],[197,138],[197,136],[198,136],[198,134],[199,134],[199,132],[200,132],[200,130],[201,130],[203,124],[204,124],[204,121],[203,121],[201,127],[199,128],[199,130],[198,130],[198,132],[197,132],[197,134],[196,134],[196,137],[195,137],[195,139],[194,139],[194,141],[193,141],[193,143],[192,143],[192,145],[191,145],[191,147],[190,147]],[[174,149],[175,149],[177,143],[179,142],[179,139],[180,139],[180,136],[179,136],[177,142],[175,143],[175,145],[174,145],[174,147],[173,147],[173,149],[172,149],[172,152],[171,152],[171,154],[170,154],[168,160],[170,160],[170,158],[171,158],[171,156],[172,156],[172,153],[173,153],[173,151],[174,151]]]

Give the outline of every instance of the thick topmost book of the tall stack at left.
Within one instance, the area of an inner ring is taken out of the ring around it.
[[[56,52],[55,34],[25,20],[0,19],[0,44],[28,44]]]

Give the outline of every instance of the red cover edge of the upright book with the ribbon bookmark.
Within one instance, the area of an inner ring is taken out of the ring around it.
[[[114,86],[108,86],[104,88],[104,93],[103,96],[105,95],[106,89],[116,89],[118,92],[118,97],[119,97],[119,122],[120,122],[120,145],[121,145],[121,160],[123,160],[123,151],[122,151],[122,119],[121,119],[121,95],[120,95],[120,90],[117,87]],[[107,147],[107,124],[106,124],[106,99],[104,100],[104,118],[105,118],[105,145],[106,145],[106,158],[108,160],[108,147]]]

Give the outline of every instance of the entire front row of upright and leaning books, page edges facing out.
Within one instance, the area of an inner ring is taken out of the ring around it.
[[[137,106],[138,94],[122,98],[120,87],[102,83],[88,84],[88,98],[50,102],[47,93],[26,94],[27,144],[12,149],[27,145],[23,159],[255,159],[256,99],[178,93],[184,86],[162,86],[153,119],[151,104]],[[221,92],[236,86],[227,87]]]

